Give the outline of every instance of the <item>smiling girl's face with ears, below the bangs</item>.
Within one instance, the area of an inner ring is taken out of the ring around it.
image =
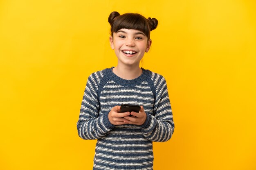
[[[148,52],[151,39],[138,30],[121,29],[110,37],[110,46],[115,50],[119,64],[139,66],[139,61]]]

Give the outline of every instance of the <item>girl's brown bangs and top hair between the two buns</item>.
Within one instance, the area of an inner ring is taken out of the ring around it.
[[[121,15],[118,20],[113,23],[111,32],[116,33],[123,28],[139,30],[143,32],[149,39],[150,28],[148,25],[148,21],[140,14],[126,13],[124,15]]]

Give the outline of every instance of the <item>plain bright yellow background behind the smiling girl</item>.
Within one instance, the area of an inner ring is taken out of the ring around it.
[[[88,76],[116,65],[112,11],[159,20],[143,67],[165,76],[175,131],[155,170],[256,169],[255,0],[1,0],[0,170],[89,170],[76,121]]]

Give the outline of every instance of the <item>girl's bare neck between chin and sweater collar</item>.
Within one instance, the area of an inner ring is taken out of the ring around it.
[[[142,74],[142,69],[139,68],[139,66],[132,67],[117,65],[117,67],[113,68],[113,72],[123,79],[132,80]]]

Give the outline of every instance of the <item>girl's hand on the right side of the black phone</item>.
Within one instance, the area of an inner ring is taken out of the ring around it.
[[[147,114],[144,111],[143,106],[140,106],[139,113],[136,113],[134,111],[131,112],[132,116],[125,116],[124,118],[124,123],[126,124],[137,124],[137,125],[142,125],[145,123]]]

